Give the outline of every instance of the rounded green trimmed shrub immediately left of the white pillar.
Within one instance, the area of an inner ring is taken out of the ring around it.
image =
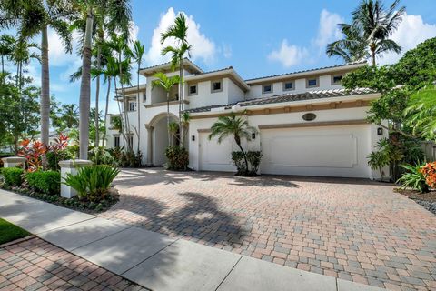
[[[61,191],[61,174],[57,171],[36,171],[25,174],[25,180],[29,187],[35,191],[59,195]]]

